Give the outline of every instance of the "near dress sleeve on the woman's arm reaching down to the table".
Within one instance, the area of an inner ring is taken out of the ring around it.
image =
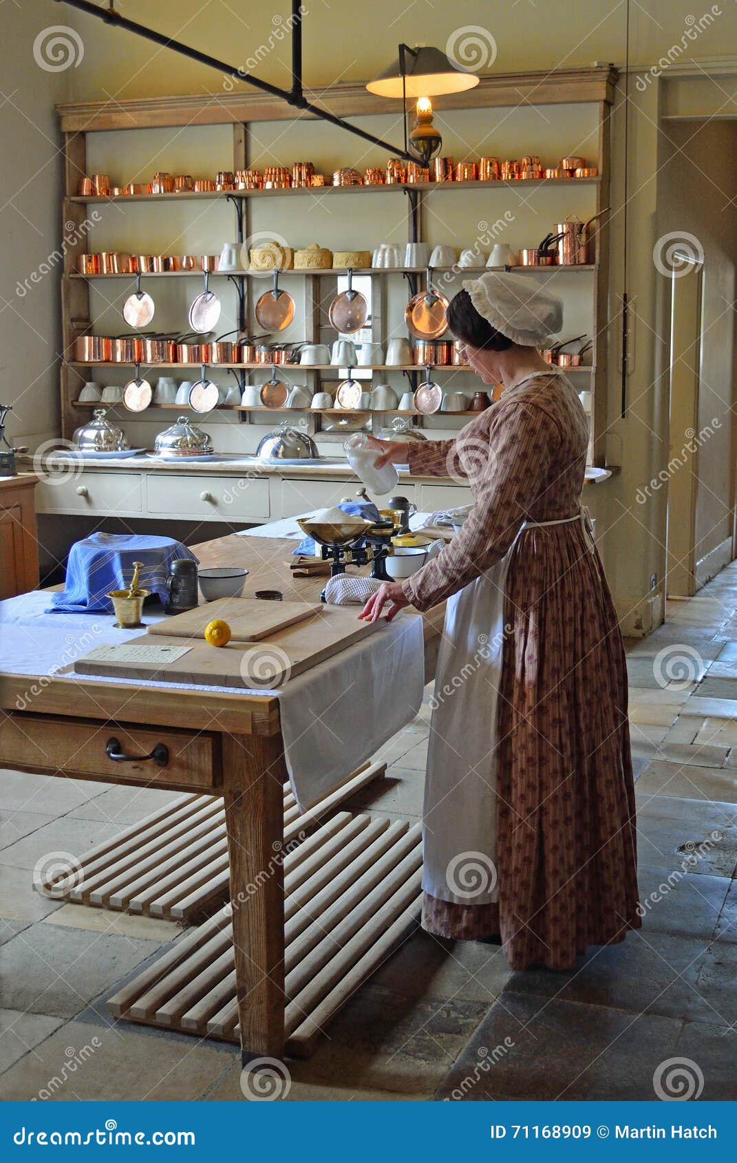
[[[558,424],[536,405],[496,408],[488,448],[473,448],[467,457],[475,493],[468,519],[437,557],[402,583],[416,609],[444,601],[503,557],[545,488],[561,443]]]

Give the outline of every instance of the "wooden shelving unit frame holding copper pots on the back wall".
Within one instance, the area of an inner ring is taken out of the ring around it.
[[[79,335],[93,329],[91,317],[90,288],[96,280],[127,279],[133,281],[135,274],[99,274],[85,276],[77,270],[78,258],[83,252],[88,251],[88,240],[84,229],[84,223],[88,213],[88,207],[103,202],[133,204],[141,202],[148,206],[156,202],[208,202],[230,200],[238,226],[238,237],[248,236],[249,211],[248,206],[252,199],[264,198],[338,198],[349,194],[352,198],[360,198],[362,194],[399,194],[406,198],[410,195],[409,202],[413,207],[415,226],[421,227],[422,206],[427,198],[432,198],[436,193],[452,195],[453,199],[463,198],[464,194],[473,191],[488,191],[489,197],[494,191],[509,191],[521,187],[539,188],[546,187],[560,190],[564,187],[592,187],[595,191],[595,209],[602,211],[609,205],[609,114],[614,101],[614,86],[616,72],[609,66],[592,69],[568,69],[550,72],[536,72],[523,74],[496,74],[480,78],[477,88],[467,93],[451,94],[444,99],[445,109],[478,109],[478,108],[508,108],[518,106],[521,102],[532,106],[545,106],[549,108],[548,116],[554,116],[557,105],[570,105],[586,102],[595,105],[598,115],[598,148],[596,157],[589,156],[589,164],[595,164],[599,174],[595,178],[557,178],[557,179],[518,179],[518,180],[492,180],[492,181],[466,181],[466,183],[416,183],[412,185],[379,185],[379,186],[319,186],[277,190],[242,190],[242,191],[207,191],[202,193],[172,193],[172,194],[134,194],[109,197],[81,197],[78,194],[79,179],[87,174],[87,135],[98,131],[128,130],[165,128],[177,126],[203,126],[203,124],[229,124],[232,134],[232,159],[229,167],[232,170],[248,169],[248,143],[249,126],[251,122],[285,121],[293,120],[293,110],[282,102],[274,101],[260,93],[228,94],[217,102],[213,102],[207,95],[181,97],[181,98],[150,98],[135,101],[109,101],[100,104],[84,102],[80,105],[62,106],[59,108],[60,127],[64,137],[65,159],[65,198],[63,204],[64,222],[66,231],[78,236],[77,242],[71,243],[65,250],[65,271],[62,279],[62,321],[64,351],[72,352],[73,341]],[[381,98],[377,98],[365,91],[360,85],[353,83],[332,86],[324,93],[314,94],[316,100],[322,101],[327,108],[343,116],[362,116],[379,113],[395,113],[395,105]],[[524,143],[521,143],[520,151],[523,152]],[[488,150],[491,151],[491,150]],[[592,151],[588,151],[589,154]],[[291,160],[291,158],[286,159]],[[319,159],[317,159],[319,160]],[[124,174],[115,174],[114,179],[124,180]],[[70,223],[81,229],[70,230]],[[422,234],[418,235],[422,237]],[[327,240],[329,242],[329,240]],[[593,427],[593,463],[603,465],[604,463],[604,430],[607,424],[607,347],[608,347],[608,321],[607,321],[607,295],[609,278],[608,261],[608,229],[606,222],[596,233],[595,261],[586,266],[542,266],[542,267],[515,267],[515,271],[530,277],[541,277],[545,280],[558,280],[568,274],[581,277],[588,274],[592,279],[593,295],[593,366],[581,369],[566,369],[581,377],[581,381],[592,388],[592,427]],[[439,273],[453,271],[453,267],[437,269]],[[464,274],[478,274],[486,267],[474,266],[463,269]],[[424,267],[369,267],[357,271],[360,274],[371,274],[380,279],[388,276],[422,276]],[[317,342],[321,324],[320,315],[320,281],[325,278],[335,278],[344,274],[339,269],[320,270],[292,270],[282,272],[284,278],[301,277],[306,280],[305,286],[305,338],[307,342]],[[264,278],[263,272],[252,271],[223,271],[212,272],[212,278],[230,278],[242,283],[242,314],[248,311],[251,302],[251,284],[253,277]],[[146,272],[142,279],[167,279],[188,278],[201,279],[200,271],[167,271]],[[122,330],[122,327],[121,327]],[[73,359],[65,359],[62,364],[60,395],[62,395],[62,424],[65,437],[71,437],[78,424],[78,413],[84,408],[94,407],[93,404],[77,402],[79,390],[85,379],[90,378],[91,369],[95,366],[112,366],[105,364],[80,364]],[[115,364],[114,366],[126,366]],[[153,369],[184,369],[196,370],[192,364],[156,364],[145,365]],[[212,365],[219,370],[264,370],[269,364],[217,364]],[[300,373],[335,371],[330,365],[308,366],[298,364],[278,365],[286,372],[299,369]],[[417,365],[405,365],[402,368],[378,365],[360,370],[373,370],[380,372],[418,372],[422,374],[423,368]],[[449,372],[467,371],[459,365],[439,365],[432,369],[434,374],[448,374]],[[179,407],[170,405],[169,407]],[[239,406],[229,406],[235,412],[250,412],[253,409]],[[291,409],[299,411],[299,409]],[[303,409],[313,412],[313,409]],[[413,415],[413,413],[405,413]],[[464,416],[466,413],[442,413],[449,416]],[[471,413],[477,415],[477,413]]]

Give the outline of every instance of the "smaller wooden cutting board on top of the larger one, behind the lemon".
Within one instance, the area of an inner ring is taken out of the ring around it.
[[[258,598],[217,598],[196,609],[173,614],[149,626],[149,634],[166,637],[201,638],[205,627],[222,618],[230,627],[232,642],[260,642],[295,622],[314,618],[323,609],[321,601],[264,601]]]

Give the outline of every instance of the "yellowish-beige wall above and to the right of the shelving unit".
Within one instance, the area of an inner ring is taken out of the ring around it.
[[[623,3],[592,0],[585,8],[571,9],[561,0],[499,6],[481,0],[458,0],[449,6],[417,2],[405,8],[395,0],[371,5],[356,0],[330,6],[308,3],[305,24],[305,76],[308,84],[365,79],[379,71],[395,52],[399,40],[444,45],[448,37],[465,26],[486,27],[493,34],[498,56],[486,71],[510,72],[556,66],[588,65],[593,62],[624,58]],[[716,6],[721,15],[703,31],[694,33],[692,16],[709,12],[694,8],[691,0],[650,0],[631,7],[631,59],[635,66],[650,67],[668,53],[675,62],[664,76],[674,76],[688,65],[699,71],[715,58],[737,55],[737,7]],[[646,9],[646,10],[645,10]],[[81,33],[85,59],[70,74],[74,99],[133,98],[144,94],[222,91],[216,72],[191,64],[166,50],[146,45],[129,34],[106,28],[81,14],[57,9],[53,19],[69,17]],[[276,38],[273,14],[288,14],[286,3],[221,5],[201,0],[127,0],[124,13],[134,20],[152,22],[181,40],[231,63],[263,57],[258,72],[266,79],[288,85],[288,40]],[[534,23],[534,35],[531,24]],[[673,48],[675,45],[675,48]],[[710,67],[710,66],[709,66]],[[736,69],[737,71],[737,69]],[[723,87],[707,83],[699,100],[706,114],[724,107]],[[734,84],[731,88],[734,90]],[[703,84],[702,84],[703,88]],[[629,148],[629,271],[632,297],[634,361],[628,384],[628,413],[620,419],[620,383],[616,372],[616,322],[624,286],[623,240],[623,116],[622,98],[614,116],[614,190],[611,216],[613,266],[610,316],[613,359],[610,391],[610,456],[622,464],[613,481],[588,490],[587,500],[599,519],[598,529],[608,576],[625,629],[642,632],[657,616],[657,592],[649,594],[651,575],[660,584],[665,565],[665,493],[659,493],[643,511],[636,502],[638,486],[651,479],[667,462],[667,393],[659,370],[657,334],[657,281],[652,251],[657,241],[657,155],[658,115],[663,86],[646,76],[630,78]],[[442,109],[442,100],[437,102]],[[473,143],[470,143],[471,150]],[[345,138],[350,154],[351,138]],[[287,158],[288,160],[289,158]],[[544,231],[543,231],[544,233]]]

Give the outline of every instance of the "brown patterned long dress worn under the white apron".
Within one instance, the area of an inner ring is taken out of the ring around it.
[[[525,527],[577,514],[587,444],[575,390],[541,373],[455,441],[409,445],[413,475],[466,477],[474,497],[452,543],[402,584],[413,606],[429,609],[509,552],[496,900],[425,892],[423,927],[467,940],[501,934],[513,969],[571,968],[588,944],[621,941],[641,925],[627,670],[611,595],[582,522]],[[452,794],[443,809],[453,812]]]

